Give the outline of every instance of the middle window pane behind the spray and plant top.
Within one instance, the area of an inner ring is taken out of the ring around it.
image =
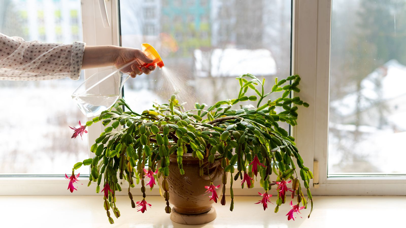
[[[236,98],[240,74],[265,77],[270,91],[274,77],[290,73],[291,1],[121,0],[120,14],[121,45],[150,43],[174,75],[156,70],[127,81],[125,99],[138,111],[166,102],[173,87],[192,109]]]

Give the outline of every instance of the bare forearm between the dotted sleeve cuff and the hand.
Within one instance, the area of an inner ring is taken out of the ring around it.
[[[85,46],[82,69],[108,67],[114,65],[122,47],[113,45]]]

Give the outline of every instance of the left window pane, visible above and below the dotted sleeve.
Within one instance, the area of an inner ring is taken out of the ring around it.
[[[80,0],[0,2],[0,31],[26,41],[82,41],[81,24]],[[69,174],[74,163],[89,157],[87,134],[71,139],[68,127],[86,123],[71,99],[80,78],[0,81],[0,174]]]

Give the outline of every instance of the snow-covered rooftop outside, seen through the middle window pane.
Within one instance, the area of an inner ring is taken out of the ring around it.
[[[195,74],[198,77],[236,77],[244,73],[256,76],[276,74],[276,62],[267,49],[194,50]]]

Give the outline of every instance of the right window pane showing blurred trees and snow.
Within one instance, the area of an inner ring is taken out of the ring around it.
[[[328,174],[406,173],[405,0],[334,0]]]

